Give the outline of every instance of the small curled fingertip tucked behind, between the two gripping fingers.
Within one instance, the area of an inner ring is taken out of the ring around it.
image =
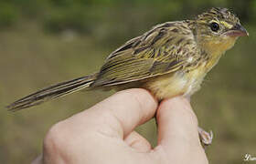
[[[146,138],[142,137],[136,131],[130,133],[124,141],[133,149],[138,150],[139,152],[148,152],[151,150],[150,143],[146,140]]]

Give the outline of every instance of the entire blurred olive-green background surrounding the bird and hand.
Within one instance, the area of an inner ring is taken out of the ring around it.
[[[128,39],[211,6],[232,9],[250,37],[239,39],[192,97],[200,126],[215,134],[208,159],[240,164],[246,153],[256,155],[255,0],[0,0],[0,163],[29,163],[48,128],[113,92],[80,92],[16,113],[5,105],[91,74]],[[155,145],[153,120],[138,130]]]

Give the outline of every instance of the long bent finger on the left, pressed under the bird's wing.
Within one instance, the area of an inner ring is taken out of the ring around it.
[[[157,105],[155,97],[147,90],[127,89],[81,112],[80,118],[76,120],[87,121],[79,123],[81,126],[89,125],[88,121],[91,120],[91,129],[98,129],[112,137],[125,138],[135,127],[153,118]]]

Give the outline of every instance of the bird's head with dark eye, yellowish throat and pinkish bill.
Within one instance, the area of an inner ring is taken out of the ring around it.
[[[249,36],[240,19],[227,8],[211,8],[197,15],[195,23],[197,42],[209,53],[223,54],[239,36]]]

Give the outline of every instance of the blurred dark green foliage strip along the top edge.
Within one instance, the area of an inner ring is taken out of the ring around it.
[[[0,25],[15,25],[17,15],[21,15],[42,22],[45,29],[54,33],[67,29],[80,33],[97,32],[94,26],[102,20],[112,22],[113,19],[140,16],[144,11],[146,15],[143,15],[154,22],[179,19],[183,17],[180,13],[198,13],[198,8],[211,6],[231,6],[236,8],[242,20],[255,22],[256,3],[253,0],[196,0],[193,3],[189,0],[1,0]],[[120,16],[113,15],[117,12]]]

